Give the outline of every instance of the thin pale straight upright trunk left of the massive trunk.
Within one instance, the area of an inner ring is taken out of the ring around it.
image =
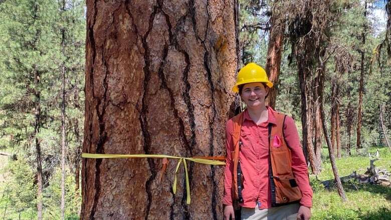
[[[63,16],[65,12],[65,0],[62,1],[61,6],[61,16]],[[61,29],[61,51],[63,56],[65,57],[65,29],[64,27]],[[62,103],[61,103],[61,219],[65,218],[65,64],[61,64],[62,70],[62,83],[61,83],[61,92],[62,92]]]

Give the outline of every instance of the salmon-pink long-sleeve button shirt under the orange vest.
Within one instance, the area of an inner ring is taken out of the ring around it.
[[[242,196],[243,207],[254,208],[258,201],[259,208],[271,208],[271,186],[269,181],[269,143],[268,143],[268,123],[276,123],[274,117],[275,111],[268,107],[267,122],[259,125],[255,124],[250,118],[248,111],[244,111],[242,130],[240,138],[242,147],[239,153],[239,160],[244,178]],[[309,185],[308,168],[305,163],[304,154],[300,145],[299,135],[293,119],[286,117],[283,126],[284,138],[292,153],[292,171],[297,178],[297,185],[301,191],[302,198],[300,204],[303,206],[312,206],[312,189]],[[223,203],[232,205],[232,178],[234,163],[231,152],[235,145],[232,140],[233,119],[228,120],[226,124],[226,146],[227,158],[224,179],[224,198]]]

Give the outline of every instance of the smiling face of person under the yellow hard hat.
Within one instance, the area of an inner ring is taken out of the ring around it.
[[[248,108],[258,108],[265,105],[265,97],[269,87],[262,83],[248,83],[243,86],[240,96]]]

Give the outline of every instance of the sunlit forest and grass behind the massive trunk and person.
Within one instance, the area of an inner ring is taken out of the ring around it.
[[[240,60],[266,66],[270,40],[281,41],[275,108],[295,119],[301,138],[306,115],[312,219],[391,219],[389,1],[332,1],[306,12],[328,22],[304,42],[294,24],[306,21],[287,13],[295,1],[278,3],[239,1]],[[0,0],[0,218],[36,219],[41,209],[43,219],[61,219],[63,209],[79,219],[85,39],[84,1]],[[312,52],[318,57],[305,56]],[[308,62],[314,68],[303,76]]]

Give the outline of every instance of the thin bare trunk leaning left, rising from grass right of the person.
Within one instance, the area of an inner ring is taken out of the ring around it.
[[[345,191],[343,189],[341,179],[339,178],[337,165],[335,164],[334,151],[331,148],[331,142],[330,142],[330,139],[328,138],[328,134],[327,134],[327,127],[326,127],[326,122],[324,119],[324,110],[323,110],[323,98],[322,98],[322,100],[320,100],[320,113],[321,113],[321,117],[322,117],[323,133],[324,133],[324,137],[326,139],[326,143],[327,143],[327,147],[328,147],[328,154],[330,156],[331,168],[333,170],[334,179],[337,183],[336,185],[337,185],[337,189],[338,189],[338,194],[339,194],[339,196],[341,196],[342,201],[346,201],[347,199],[346,199]]]

